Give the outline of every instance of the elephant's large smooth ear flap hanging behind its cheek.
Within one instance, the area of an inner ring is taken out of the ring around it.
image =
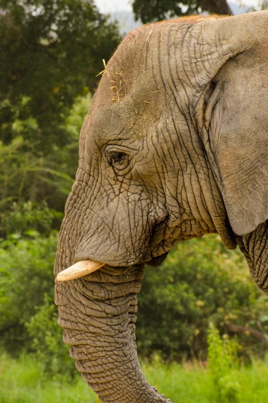
[[[232,229],[245,235],[268,219],[268,89],[232,64],[208,102],[203,138]]]

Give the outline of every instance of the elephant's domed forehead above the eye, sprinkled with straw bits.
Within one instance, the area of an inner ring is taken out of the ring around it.
[[[147,26],[130,33],[107,64],[91,111],[88,130],[146,135],[166,108],[159,66],[159,35],[163,27]],[[161,60],[166,56],[161,55]]]

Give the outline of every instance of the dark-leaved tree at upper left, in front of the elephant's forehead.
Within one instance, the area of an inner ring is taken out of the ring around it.
[[[64,119],[119,43],[92,0],[0,0],[0,139],[42,155],[68,142]],[[16,121],[16,125],[14,125]]]

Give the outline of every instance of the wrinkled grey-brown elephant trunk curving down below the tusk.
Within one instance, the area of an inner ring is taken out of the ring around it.
[[[58,268],[59,269],[59,268]],[[85,277],[56,282],[55,302],[64,342],[103,402],[167,402],[146,381],[137,357],[135,322],[141,266],[105,266]]]

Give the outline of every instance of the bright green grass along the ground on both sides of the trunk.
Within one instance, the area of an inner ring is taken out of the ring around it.
[[[47,379],[40,364],[29,358],[12,360],[1,356],[1,403],[97,403],[100,400],[81,377],[73,384]],[[177,403],[266,403],[268,362],[254,361],[250,367],[232,370],[223,380],[224,388],[237,391],[236,397],[219,394],[209,370],[198,365],[143,364],[148,381],[160,393]],[[231,388],[231,389],[230,389]]]

